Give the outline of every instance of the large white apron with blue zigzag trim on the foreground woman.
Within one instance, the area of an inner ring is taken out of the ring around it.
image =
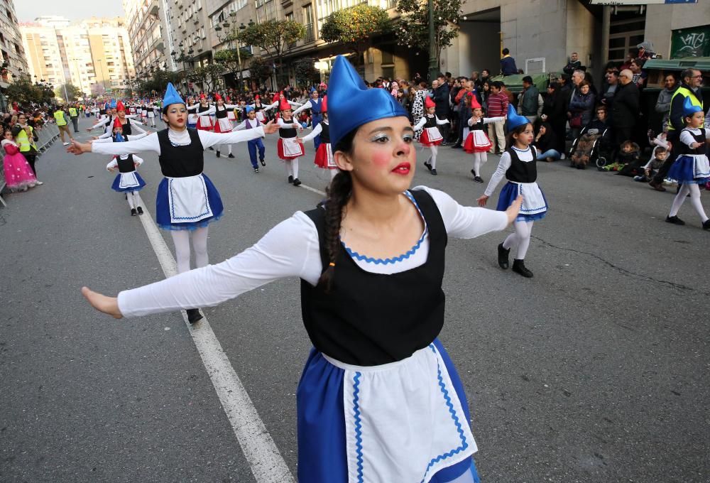
[[[434,344],[407,359],[344,370],[348,481],[430,481],[478,450]]]

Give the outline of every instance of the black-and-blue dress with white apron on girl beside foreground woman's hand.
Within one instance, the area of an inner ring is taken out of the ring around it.
[[[520,213],[515,218],[516,222],[532,222],[535,219],[542,219],[547,214],[547,198],[537,180],[537,151],[535,146],[528,146],[522,150],[511,146],[506,149],[510,154],[510,168],[506,170],[508,183],[503,186],[501,196],[498,198],[496,210],[506,211],[513,204],[518,195],[523,195],[523,206]],[[520,154],[525,154],[526,158],[532,156],[530,161],[520,160]]]

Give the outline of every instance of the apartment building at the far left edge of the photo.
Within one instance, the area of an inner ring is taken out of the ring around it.
[[[13,79],[28,72],[12,0],[0,0],[0,56],[0,88],[5,88]]]

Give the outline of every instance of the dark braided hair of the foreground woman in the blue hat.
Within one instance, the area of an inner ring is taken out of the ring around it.
[[[341,139],[335,151],[342,151],[352,154],[353,139],[357,129],[350,131]],[[340,251],[340,227],[343,220],[343,208],[350,200],[353,189],[352,175],[349,171],[339,171],[325,190],[327,198],[324,202],[325,208],[325,246],[328,252],[329,266],[323,271],[318,279],[318,286],[323,286],[325,292],[329,293],[333,285],[335,275],[335,260]]]

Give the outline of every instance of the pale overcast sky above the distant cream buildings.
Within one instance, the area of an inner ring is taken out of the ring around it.
[[[60,15],[70,20],[124,16],[121,0],[16,0],[14,3],[17,18],[21,22],[31,22],[41,15]]]

